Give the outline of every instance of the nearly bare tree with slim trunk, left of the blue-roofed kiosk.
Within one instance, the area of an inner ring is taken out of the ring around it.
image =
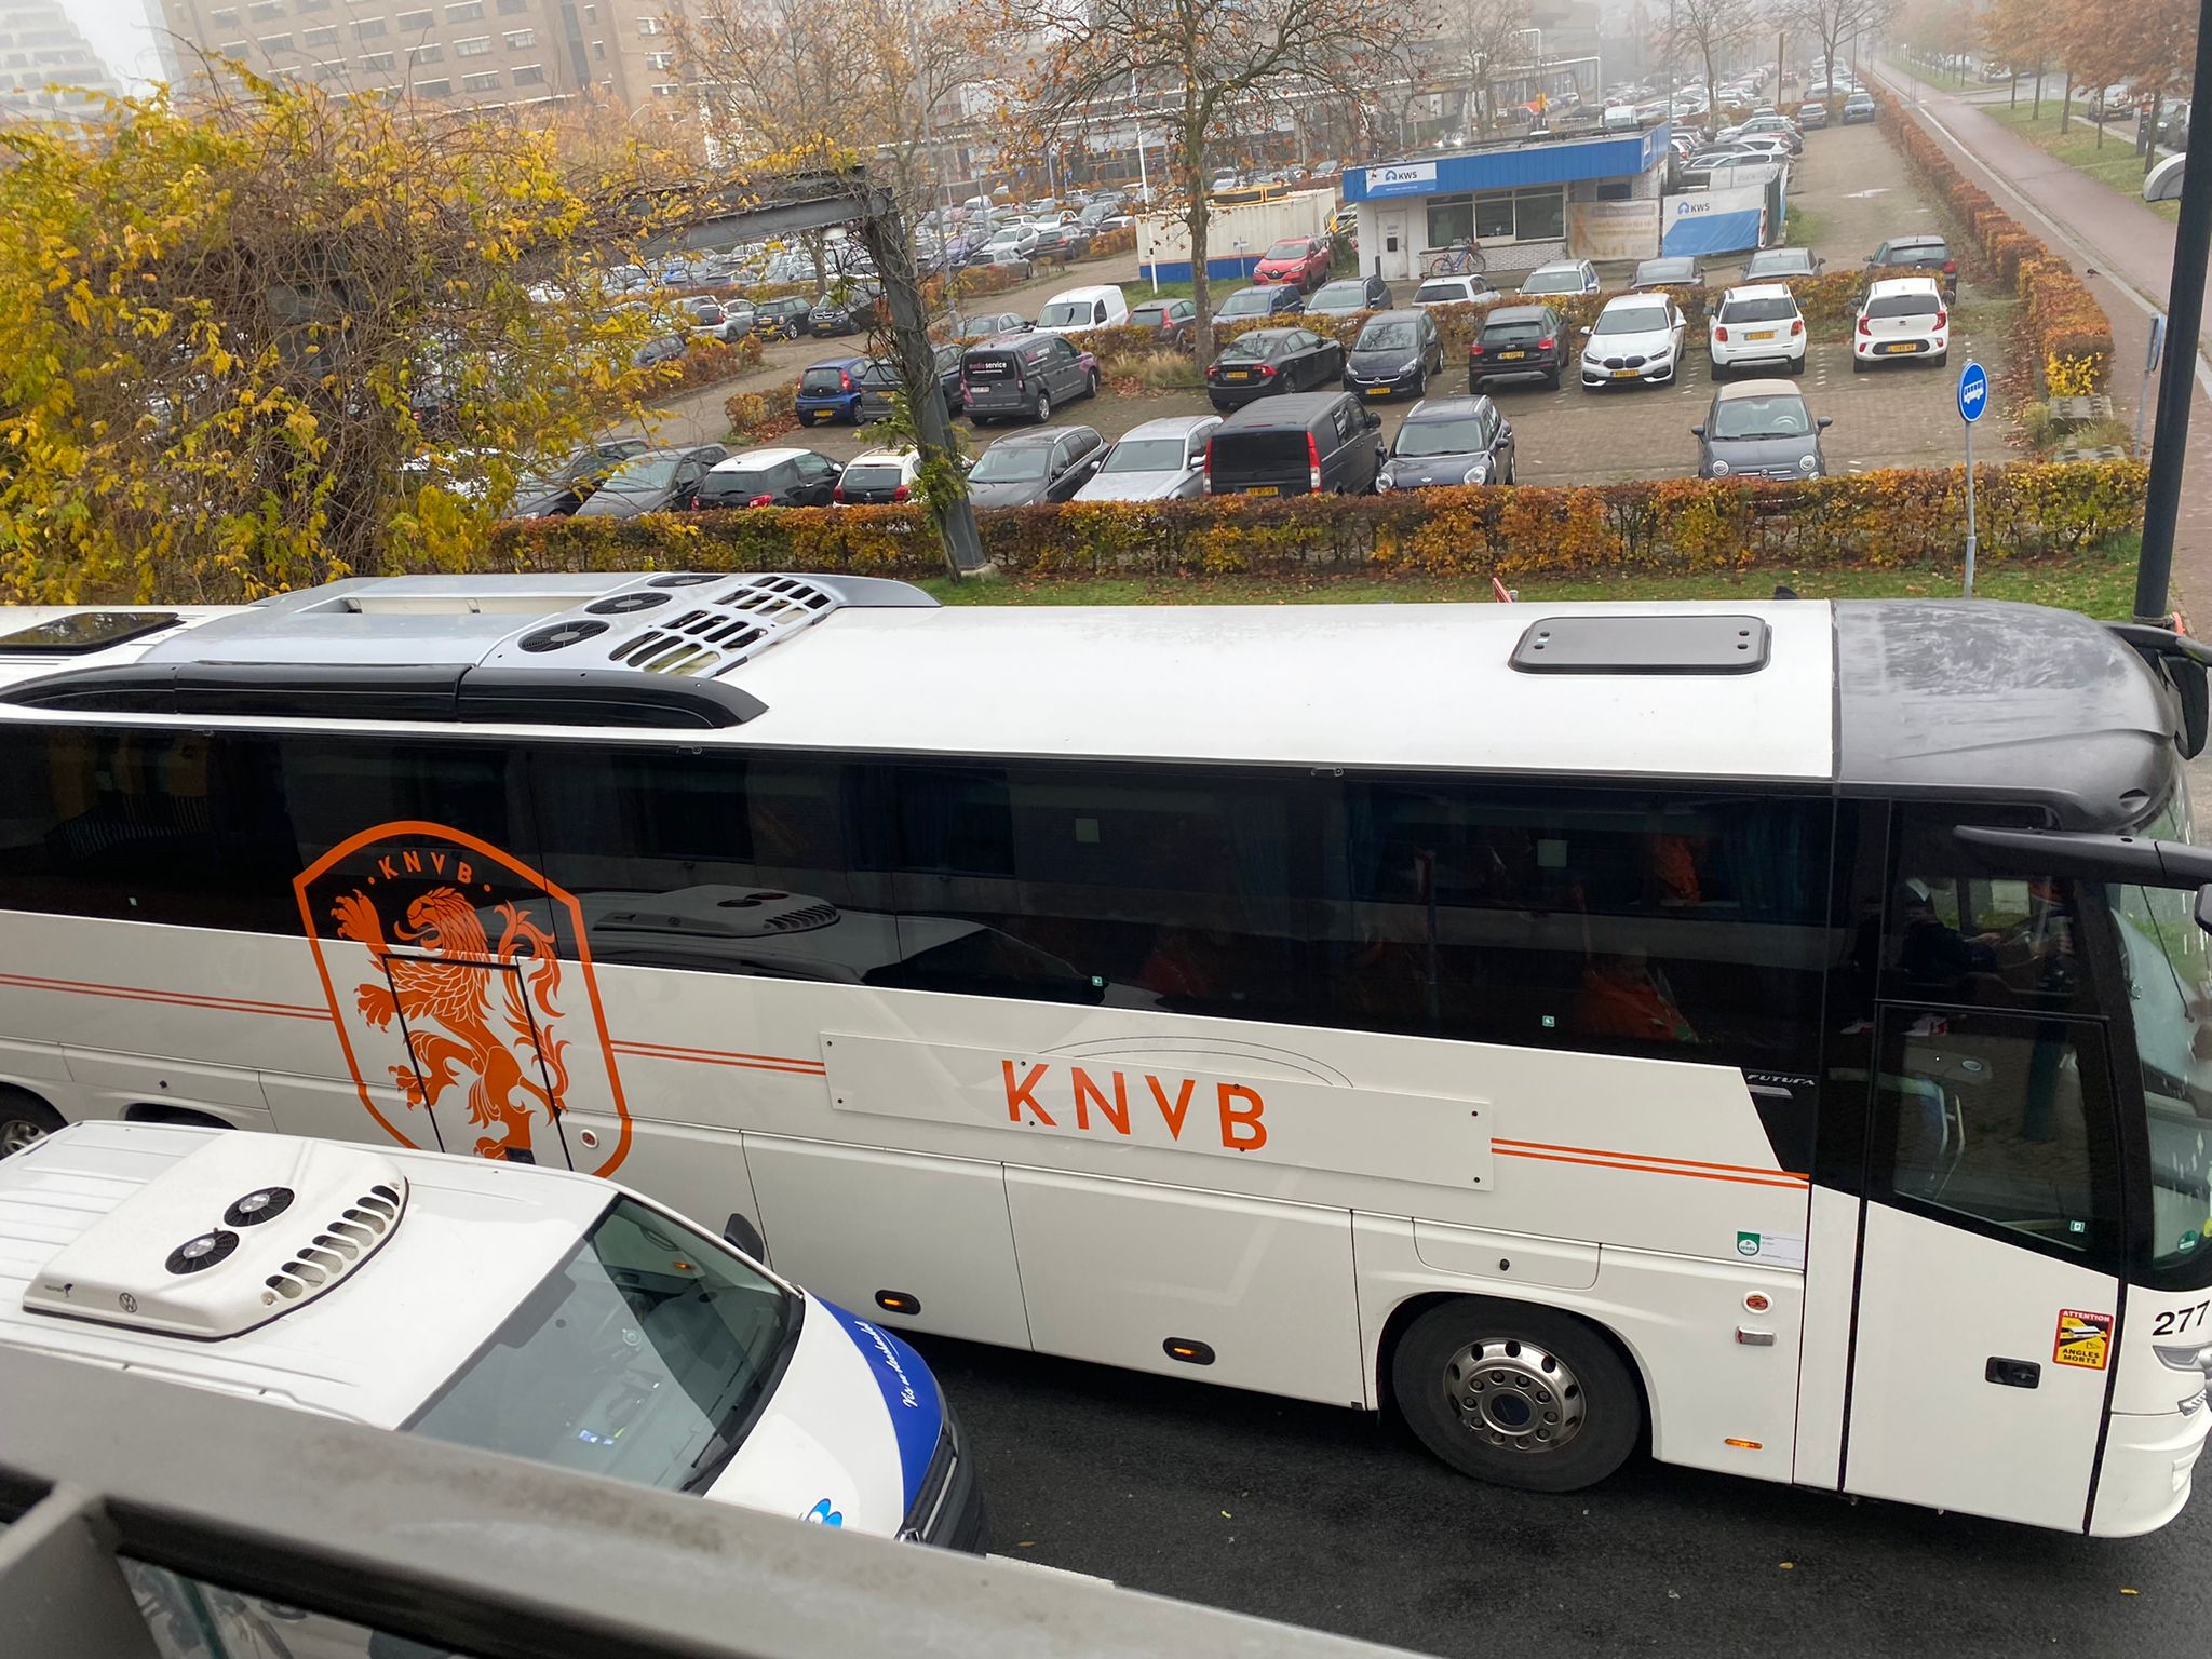
[[[1009,113],[1037,142],[1121,108],[1133,88],[1166,95],[1148,122],[1166,126],[1168,190],[1190,230],[1201,369],[1212,358],[1212,153],[1272,133],[1287,102],[1376,84],[1413,27],[1398,0],[993,0],[991,15],[1035,40]]]

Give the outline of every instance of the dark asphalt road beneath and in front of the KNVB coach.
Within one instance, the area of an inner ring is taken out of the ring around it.
[[[2205,1495],[2143,1540],[1648,1458],[1535,1498],[1451,1473],[1389,1418],[916,1345],[980,1458],[993,1553],[1418,1652],[2181,1659],[2212,1628]]]

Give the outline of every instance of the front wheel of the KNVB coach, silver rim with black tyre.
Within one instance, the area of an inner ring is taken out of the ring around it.
[[[1453,1469],[1522,1491],[1579,1491],[1637,1444],[1628,1365],[1568,1314],[1464,1298],[1416,1318],[1391,1356],[1398,1411]]]

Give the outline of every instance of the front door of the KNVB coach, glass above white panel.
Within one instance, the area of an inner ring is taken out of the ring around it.
[[[1843,1489],[2079,1531],[2124,1232],[2073,887],[1900,867],[1871,1033]]]

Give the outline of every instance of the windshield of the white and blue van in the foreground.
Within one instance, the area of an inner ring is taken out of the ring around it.
[[[799,1340],[799,1301],[717,1243],[615,1199],[411,1427],[434,1440],[701,1491]]]

